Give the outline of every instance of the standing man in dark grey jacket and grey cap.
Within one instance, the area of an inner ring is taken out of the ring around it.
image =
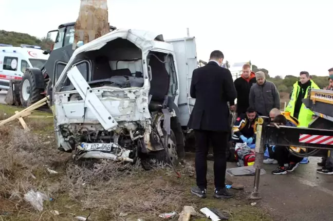
[[[280,109],[280,94],[272,82],[265,79],[265,73],[255,73],[256,84],[250,89],[249,105],[258,115],[268,116],[273,108]]]

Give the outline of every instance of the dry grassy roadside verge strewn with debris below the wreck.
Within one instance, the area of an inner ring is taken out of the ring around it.
[[[20,108],[0,105],[4,119]],[[6,114],[6,115],[5,115]],[[35,111],[34,115],[50,115]],[[73,162],[70,153],[57,150],[53,119],[25,118],[30,131],[24,131],[18,120],[0,127],[0,220],[162,220],[160,213],[181,212],[183,206],[215,207],[229,214],[229,220],[272,220],[265,211],[251,206],[248,193],[235,191],[230,200],[209,196],[198,199],[189,192],[195,183],[191,158],[178,166],[182,178],[165,165],[144,171],[136,165],[107,162]],[[50,174],[47,169],[57,171]],[[212,174],[208,176],[213,191]],[[29,190],[52,197],[44,202],[43,211],[36,211],[24,200]],[[59,215],[52,212],[56,210]],[[120,213],[127,213],[120,217]],[[191,220],[210,220],[204,216]]]

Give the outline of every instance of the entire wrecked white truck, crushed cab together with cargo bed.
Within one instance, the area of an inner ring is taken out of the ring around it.
[[[52,51],[47,67],[60,150],[126,162],[170,156],[174,163],[184,155],[194,37],[164,41],[147,31],[115,30],[75,51]]]

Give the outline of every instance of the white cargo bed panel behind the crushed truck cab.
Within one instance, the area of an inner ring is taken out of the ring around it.
[[[184,37],[165,42],[173,44],[174,47],[179,82],[179,121],[181,126],[187,126],[195,103],[195,98],[190,96],[192,73],[198,67],[195,38]]]

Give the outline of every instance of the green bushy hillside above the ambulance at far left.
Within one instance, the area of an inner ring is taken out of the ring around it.
[[[20,45],[36,45],[42,49],[49,49],[46,44],[46,38],[37,38],[26,33],[0,30],[0,44],[8,44],[12,46]]]

